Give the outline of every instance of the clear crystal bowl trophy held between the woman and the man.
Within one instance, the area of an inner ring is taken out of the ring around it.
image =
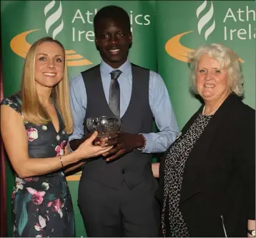
[[[98,132],[98,138],[105,138],[117,133],[121,125],[118,116],[100,116],[98,118],[87,118],[87,128],[90,133]]]

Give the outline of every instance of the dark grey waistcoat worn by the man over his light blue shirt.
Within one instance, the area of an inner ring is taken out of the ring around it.
[[[84,118],[84,134],[86,134],[87,118],[114,114],[105,98],[99,65],[82,72],[82,77],[87,90],[87,112]],[[132,64],[132,95],[121,120],[120,131],[134,134],[152,132],[149,70]],[[129,187],[134,187],[143,180],[152,179],[151,162],[152,155],[139,150],[129,152],[118,160],[108,163],[102,157],[98,157],[84,165],[81,180],[89,177],[113,188],[118,188],[122,180],[125,180]]]

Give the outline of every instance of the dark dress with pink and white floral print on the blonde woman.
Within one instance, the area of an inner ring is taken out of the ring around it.
[[[4,98],[1,104],[22,116],[19,95]],[[61,115],[56,112],[59,133],[51,122],[33,125],[24,121],[30,158],[64,155],[68,135],[63,130]],[[72,198],[62,170],[24,179],[16,175],[11,204],[14,237],[74,237]]]

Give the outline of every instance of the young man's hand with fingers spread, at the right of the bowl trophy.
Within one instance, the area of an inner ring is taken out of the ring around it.
[[[145,140],[142,135],[118,132],[117,134],[112,135],[104,144],[104,146],[115,145],[114,148],[102,155],[104,157],[112,155],[106,159],[107,162],[110,162],[134,149],[143,148],[144,144]]]

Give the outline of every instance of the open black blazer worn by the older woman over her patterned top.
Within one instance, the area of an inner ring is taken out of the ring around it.
[[[156,193],[160,203],[165,159]],[[192,237],[247,236],[247,219],[255,219],[255,110],[237,95],[222,103],[190,152],[179,208]]]

